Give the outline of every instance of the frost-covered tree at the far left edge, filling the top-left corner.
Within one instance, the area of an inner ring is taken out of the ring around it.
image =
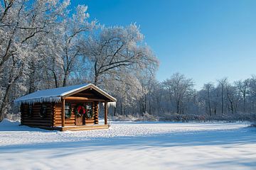
[[[16,97],[18,81],[33,75],[41,40],[50,32],[69,1],[1,1],[0,3],[0,120]],[[56,25],[55,25],[56,26]],[[11,75],[10,75],[11,73]],[[32,79],[32,78],[31,78]],[[33,84],[31,82],[31,84]]]

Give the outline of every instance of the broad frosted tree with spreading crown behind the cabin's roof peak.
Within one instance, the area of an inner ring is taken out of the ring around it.
[[[99,85],[105,77],[124,69],[129,73],[157,66],[158,60],[150,48],[142,44],[143,38],[139,28],[131,24],[127,27],[102,26],[89,40],[81,42],[84,57],[92,64],[94,84]]]

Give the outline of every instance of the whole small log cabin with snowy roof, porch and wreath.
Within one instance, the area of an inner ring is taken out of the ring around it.
[[[108,106],[116,101],[93,84],[80,84],[36,91],[14,103],[20,106],[21,125],[64,131],[109,128]],[[99,103],[104,105],[104,125],[99,124]]]

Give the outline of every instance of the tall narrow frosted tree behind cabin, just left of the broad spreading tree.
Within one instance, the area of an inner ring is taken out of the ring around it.
[[[87,6],[79,5],[76,8],[76,13],[73,13],[71,18],[65,19],[61,24],[63,86],[67,84],[70,72],[75,72],[75,63],[82,54],[80,39],[84,38],[86,33],[95,26],[95,21],[91,23],[87,21],[88,17]]]

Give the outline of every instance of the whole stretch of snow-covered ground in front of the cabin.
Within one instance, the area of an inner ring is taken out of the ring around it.
[[[0,123],[0,169],[256,169],[246,123],[112,123],[57,132]]]

